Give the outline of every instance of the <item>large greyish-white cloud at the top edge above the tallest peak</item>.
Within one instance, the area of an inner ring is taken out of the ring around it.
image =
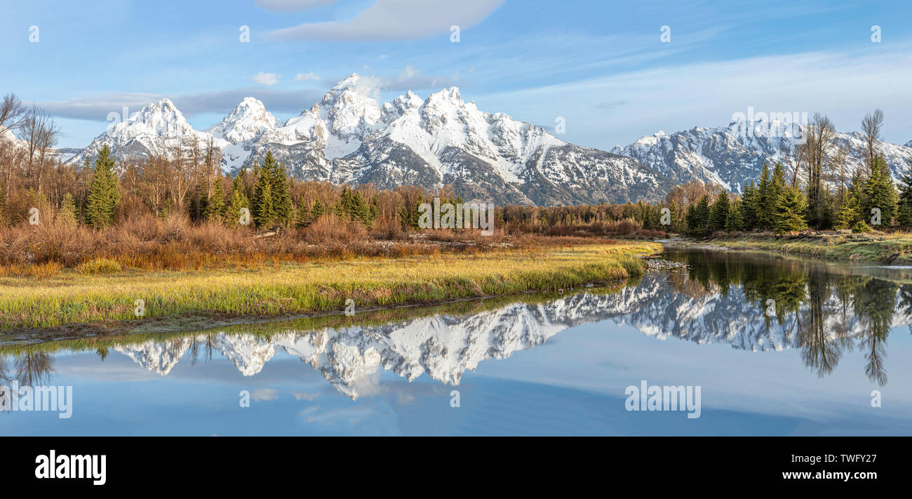
[[[450,33],[450,26],[475,26],[502,4],[503,0],[377,0],[349,20],[305,23],[271,35],[281,40],[414,40]]]

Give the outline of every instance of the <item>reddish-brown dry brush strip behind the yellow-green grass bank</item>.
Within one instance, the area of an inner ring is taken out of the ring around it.
[[[158,272],[255,269],[358,256],[475,254],[503,247],[597,244],[604,242],[601,234],[635,227],[619,221],[592,225],[588,232],[569,226],[553,229],[512,233],[499,227],[492,235],[439,229],[409,234],[398,220],[381,217],[368,232],[362,224],[325,215],[303,230],[264,234],[240,225],[192,224],[178,214],[159,220],[140,213],[102,231],[54,222],[0,228],[0,275],[47,278],[98,258],[117,262],[125,270]]]

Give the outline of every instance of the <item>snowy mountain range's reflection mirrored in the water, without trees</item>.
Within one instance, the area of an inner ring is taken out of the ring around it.
[[[786,313],[782,322],[767,320],[762,307],[749,301],[740,286],[732,286],[727,294],[691,296],[679,292],[667,275],[650,274],[636,286],[609,295],[578,293],[548,303],[516,302],[475,314],[441,314],[379,326],[288,329],[268,338],[219,333],[210,344],[244,376],[258,374],[266,362],[285,352],[319,371],[339,392],[357,399],[364,379],[381,369],[409,381],[427,374],[441,383],[458,385],[466,370],[476,369],[486,359],[505,359],[542,345],[567,328],[604,320],[628,324],[660,340],[726,344],[753,352],[822,345],[837,348],[847,339],[859,343],[871,337],[865,320],[856,317],[852,307],[846,311],[836,296],[824,303],[820,330],[825,338],[807,338],[801,326],[795,326],[800,322],[807,327],[810,307],[798,314],[800,321],[795,313]],[[907,325],[912,317],[896,307],[891,323],[893,327]],[[143,369],[165,376],[197,341],[206,338],[150,340],[114,349]],[[834,356],[834,351],[828,355]]]

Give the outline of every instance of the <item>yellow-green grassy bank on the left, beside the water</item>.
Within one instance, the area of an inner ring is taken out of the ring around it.
[[[618,242],[490,250],[480,254],[277,262],[257,269],[0,278],[0,327],[16,331],[88,325],[130,330],[167,317],[282,316],[356,307],[556,290],[640,275],[636,255],[660,244]],[[135,316],[142,300],[142,317]]]

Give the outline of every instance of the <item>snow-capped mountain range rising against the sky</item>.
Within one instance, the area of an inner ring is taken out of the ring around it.
[[[85,150],[62,160],[81,163],[108,144],[119,160],[160,155],[185,158],[211,143],[222,151],[223,171],[251,168],[272,151],[288,172],[305,181],[374,183],[438,188],[452,184],[463,199],[493,203],[578,204],[656,201],[674,185],[700,180],[740,192],[763,161],[778,161],[794,138],[748,137],[734,125],[659,131],[626,147],[600,151],[560,140],[541,127],[478,109],[444,88],[421,99],[409,91],[380,103],[353,74],[284,123],[262,102],[245,98],[221,122],[193,130],[169,99],[154,102],[112,125]],[[857,132],[840,133],[853,156],[863,157]],[[909,172],[912,141],[881,142],[898,180]],[[850,158],[847,171],[858,161]]]

